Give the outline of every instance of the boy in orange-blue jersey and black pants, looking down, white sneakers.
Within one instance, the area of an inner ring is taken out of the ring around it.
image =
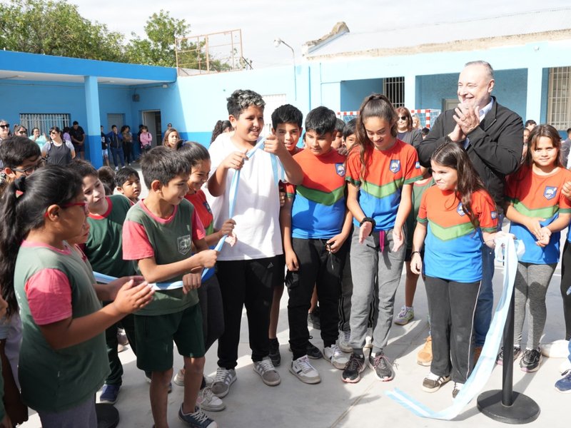
[[[301,382],[320,382],[307,355],[307,313],[313,286],[320,302],[323,357],[338,369],[348,355],[337,345],[338,305],[341,272],[345,265],[347,240],[353,218],[345,207],[345,157],[333,149],[335,113],[314,108],[305,118],[306,148],[294,156],[303,170],[303,182],[293,189],[291,235],[284,234],[285,263],[289,288],[288,320],[293,360],[290,372]]]

